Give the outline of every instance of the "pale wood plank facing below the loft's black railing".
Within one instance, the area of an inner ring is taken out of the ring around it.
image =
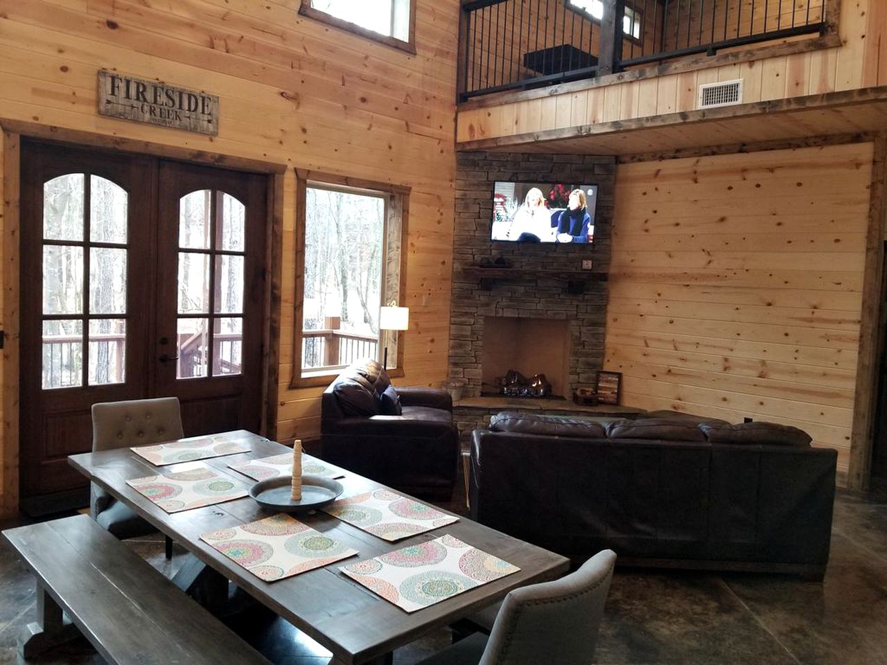
[[[743,102],[887,84],[887,8],[841,3],[843,46],[574,90],[459,111],[456,141],[508,137],[597,122],[693,111],[703,83],[743,80]],[[517,148],[515,148],[517,149]]]

